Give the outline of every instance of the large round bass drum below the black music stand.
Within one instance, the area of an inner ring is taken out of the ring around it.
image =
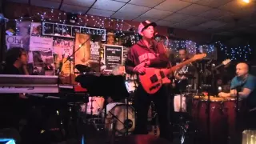
[[[104,110],[103,110],[104,111]],[[123,123],[128,122],[128,132],[131,134],[135,128],[135,110],[132,106],[128,106],[128,121],[126,121],[126,105],[124,103],[115,102],[106,105],[106,130],[115,132],[116,136],[126,134],[126,128]],[[114,118],[117,117],[118,119]],[[104,114],[102,114],[104,117]],[[115,122],[115,125],[113,125]]]

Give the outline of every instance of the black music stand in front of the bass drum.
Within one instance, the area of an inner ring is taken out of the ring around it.
[[[76,82],[79,82],[83,88],[88,90],[90,95],[100,95],[105,99],[111,97],[116,98],[128,98],[129,93],[126,89],[125,78],[122,75],[100,75],[96,76],[94,74],[80,74],[75,78]],[[104,106],[104,122],[106,120],[106,105]],[[116,118],[115,115],[113,115]],[[124,126],[126,127],[126,134],[128,135],[129,130],[128,122],[128,102],[126,103],[126,122]]]

